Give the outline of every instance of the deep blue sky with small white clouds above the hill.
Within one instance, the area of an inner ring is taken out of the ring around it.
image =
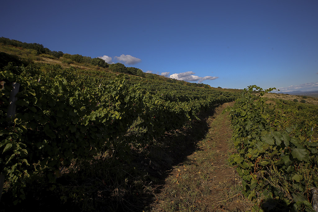
[[[308,91],[317,11],[316,0],[5,1],[0,36],[213,87]]]

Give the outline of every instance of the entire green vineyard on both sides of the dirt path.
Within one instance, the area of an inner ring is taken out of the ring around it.
[[[266,98],[273,89],[256,85],[214,89],[133,67],[115,72],[108,64],[93,66],[100,64],[96,58],[63,58],[43,46],[36,53],[38,47],[21,48],[32,59],[0,52],[1,211],[29,211],[34,204],[39,211],[151,211],[151,186],[200,148],[194,146],[208,131],[203,120],[233,101],[226,109],[235,148],[229,161],[242,194],[255,203],[252,210],[317,211],[318,106]],[[34,62],[38,55],[67,63]],[[191,129],[194,139],[185,133]]]

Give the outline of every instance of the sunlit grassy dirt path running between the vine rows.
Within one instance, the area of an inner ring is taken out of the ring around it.
[[[225,103],[207,120],[209,127],[196,150],[173,167],[156,196],[152,211],[247,211],[240,180],[229,166],[232,130]]]

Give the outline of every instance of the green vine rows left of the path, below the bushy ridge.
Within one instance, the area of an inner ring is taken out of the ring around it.
[[[237,98],[233,92],[46,64],[9,64],[1,81],[3,198],[9,195],[14,205],[24,202],[24,187],[38,176],[54,190],[62,171],[79,161],[107,153],[129,162],[132,149]],[[16,115],[8,118],[14,82],[20,84]]]

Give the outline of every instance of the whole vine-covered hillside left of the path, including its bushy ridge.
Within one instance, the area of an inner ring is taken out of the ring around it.
[[[123,64],[93,65],[94,58],[40,44],[10,44],[0,49],[4,210],[33,204],[43,205],[39,210],[139,208],[140,196],[154,192],[146,184],[158,179],[140,166],[140,156],[157,161],[151,172],[161,173],[171,164],[147,155],[175,147],[162,137],[190,129],[202,114],[239,95]],[[16,110],[8,117],[15,82]]]

